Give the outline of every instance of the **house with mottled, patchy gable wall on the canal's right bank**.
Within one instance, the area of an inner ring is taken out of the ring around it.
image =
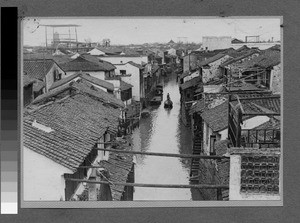
[[[219,53],[213,57],[210,57],[204,61],[201,61],[198,66],[200,67],[200,74],[202,76],[202,82],[205,84],[208,81],[221,77],[222,72],[219,69],[219,65],[230,59],[231,57],[222,53]]]

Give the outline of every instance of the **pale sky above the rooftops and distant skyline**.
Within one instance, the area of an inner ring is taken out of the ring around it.
[[[35,19],[35,20],[34,20]],[[260,40],[280,40],[280,18],[248,17],[82,17],[77,18],[25,18],[23,44],[45,45],[45,27],[40,24],[76,24],[78,41],[90,39],[101,42],[108,38],[111,45],[167,43],[178,37],[200,43],[203,36],[231,36],[245,40],[245,36],[259,35]],[[52,28],[47,29],[52,38]],[[58,33],[69,33],[68,28],[56,28]],[[75,30],[71,28],[75,37]],[[60,36],[61,37],[61,36]]]

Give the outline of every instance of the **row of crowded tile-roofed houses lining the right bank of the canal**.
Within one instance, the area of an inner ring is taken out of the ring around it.
[[[197,52],[184,59],[181,115],[192,129],[193,153],[227,157],[193,159],[191,182],[228,185],[199,190],[207,200],[280,199],[280,46]]]

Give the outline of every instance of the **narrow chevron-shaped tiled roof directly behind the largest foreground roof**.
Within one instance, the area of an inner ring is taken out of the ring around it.
[[[88,82],[90,82],[92,84],[98,85],[98,86],[106,88],[108,90],[111,90],[111,91],[114,90],[114,85],[112,83],[109,83],[107,81],[101,80],[101,79],[96,78],[96,77],[92,77],[92,76],[90,76],[87,73],[80,73],[80,72],[72,74],[69,77],[66,77],[66,78],[63,78],[63,79],[61,79],[59,81],[54,82],[51,85],[51,87],[49,88],[49,90],[52,90],[52,89],[57,88],[57,87],[59,87],[61,85],[64,85],[64,84],[72,81],[76,77],[80,77],[80,78],[82,78],[84,80],[87,80]]]

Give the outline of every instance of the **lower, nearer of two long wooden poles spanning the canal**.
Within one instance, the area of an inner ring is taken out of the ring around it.
[[[97,180],[82,180],[82,179],[66,179],[67,181],[85,182],[91,184],[110,184],[107,181]],[[130,187],[157,187],[157,188],[202,188],[202,189],[229,189],[228,185],[215,185],[215,184],[143,184],[143,183],[119,183],[113,182],[115,185],[130,186]]]

